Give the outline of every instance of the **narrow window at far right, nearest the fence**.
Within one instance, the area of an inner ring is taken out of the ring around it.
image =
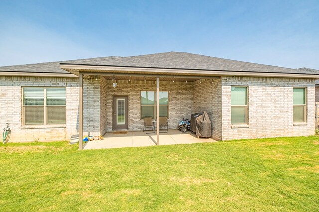
[[[306,122],[306,88],[293,88],[293,122]]]

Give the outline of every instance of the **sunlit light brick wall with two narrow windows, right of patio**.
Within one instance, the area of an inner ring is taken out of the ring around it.
[[[315,89],[313,80],[222,77],[221,81],[223,140],[314,134]],[[231,86],[236,85],[248,86],[247,126],[231,125]],[[306,125],[293,125],[293,87],[307,87],[308,122]]]

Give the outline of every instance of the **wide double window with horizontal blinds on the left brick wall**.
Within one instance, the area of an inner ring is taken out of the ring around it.
[[[23,87],[24,125],[65,124],[65,87]]]

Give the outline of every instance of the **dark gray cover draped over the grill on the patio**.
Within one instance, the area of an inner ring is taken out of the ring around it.
[[[196,113],[192,115],[190,125],[191,131],[195,132],[197,136],[210,138],[211,122],[207,112],[203,112],[203,114]]]

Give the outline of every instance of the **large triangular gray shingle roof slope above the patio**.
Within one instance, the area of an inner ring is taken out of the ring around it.
[[[115,57],[84,61],[81,63],[72,62],[69,64],[83,65],[105,65],[145,68],[172,68],[192,70],[221,70],[221,71],[243,71],[243,72],[272,72],[272,73],[297,73],[316,74],[313,71],[303,71],[278,66],[248,63],[237,60],[229,60],[217,57],[210,57],[186,52],[165,52],[130,57]],[[317,73],[318,74],[318,73]]]

